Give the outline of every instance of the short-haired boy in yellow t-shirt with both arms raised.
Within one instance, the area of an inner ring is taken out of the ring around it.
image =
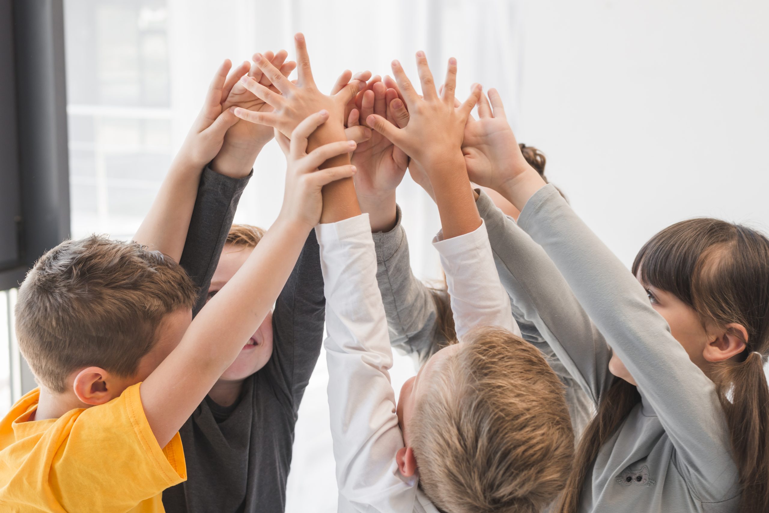
[[[197,290],[177,262],[201,170],[238,122],[221,100],[248,67],[228,78],[229,68],[218,70],[135,242],[67,240],[22,283],[16,332],[40,388],[0,422],[0,511],[163,511],[161,491],[186,478],[178,429],[275,303],[318,223],[321,188],[354,173],[349,157],[313,171],[355,147],[341,119],[359,81],[307,102],[316,112],[292,137],[278,220],[191,320]],[[310,134],[314,146],[336,142],[308,156]]]

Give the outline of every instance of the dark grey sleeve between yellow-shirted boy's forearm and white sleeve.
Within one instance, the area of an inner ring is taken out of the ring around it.
[[[298,412],[323,345],[325,296],[318,239],[311,231],[272,314],[268,382]]]

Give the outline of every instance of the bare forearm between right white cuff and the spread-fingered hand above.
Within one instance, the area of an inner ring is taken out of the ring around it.
[[[430,176],[444,239],[478,229],[481,216],[475,207],[474,193],[461,155],[451,161],[436,164]]]

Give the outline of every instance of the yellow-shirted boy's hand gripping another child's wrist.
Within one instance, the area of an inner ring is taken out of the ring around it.
[[[294,129],[290,140],[275,131],[275,139],[288,161],[283,206],[278,219],[299,221],[305,227],[315,227],[323,210],[323,186],[355,174],[352,164],[318,170],[318,166],[331,157],[354,151],[355,141],[335,141],[307,153],[308,137],[328,119],[329,113],[325,110],[310,114]]]

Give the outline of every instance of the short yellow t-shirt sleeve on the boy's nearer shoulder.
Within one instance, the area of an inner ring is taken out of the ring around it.
[[[165,488],[187,478],[179,434],[165,448],[158,445],[140,386],[72,421],[48,476],[65,511],[128,511],[149,499],[159,505]]]

